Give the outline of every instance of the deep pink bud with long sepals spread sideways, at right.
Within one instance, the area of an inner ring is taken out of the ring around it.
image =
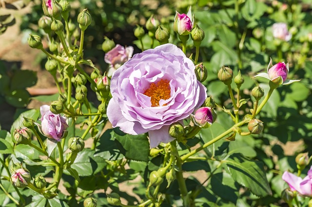
[[[269,68],[270,65],[272,66],[271,68]],[[279,62],[275,65],[272,65],[272,59],[270,58],[267,73],[259,73],[254,77],[264,77],[271,80],[273,83],[283,85],[288,85],[291,84],[292,82],[300,81],[300,80],[288,80],[287,79],[288,73],[289,73],[288,63],[285,64],[284,62]]]

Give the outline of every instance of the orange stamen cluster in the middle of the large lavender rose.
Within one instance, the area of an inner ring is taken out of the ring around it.
[[[170,98],[170,85],[169,80],[161,79],[157,83],[152,83],[150,88],[144,92],[144,95],[151,97],[152,107],[159,106],[161,99],[167,100]],[[166,104],[164,104],[165,106]]]

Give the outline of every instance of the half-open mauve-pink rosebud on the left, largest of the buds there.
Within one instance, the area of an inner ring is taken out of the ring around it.
[[[52,113],[48,105],[41,106],[40,113],[42,133],[46,137],[59,142],[68,127],[65,116]]]

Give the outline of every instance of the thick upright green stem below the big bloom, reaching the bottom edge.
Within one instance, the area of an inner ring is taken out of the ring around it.
[[[170,145],[171,145],[172,151],[177,151],[176,141],[171,142]],[[175,154],[177,154],[177,153],[175,153]],[[181,198],[183,200],[183,207],[190,207],[190,198],[189,198],[186,183],[185,183],[185,180],[183,178],[183,173],[182,173],[182,163],[183,163],[183,160],[181,159],[181,157],[177,156],[176,157],[176,167],[178,170],[176,170],[176,180],[177,180],[177,183],[179,185]]]

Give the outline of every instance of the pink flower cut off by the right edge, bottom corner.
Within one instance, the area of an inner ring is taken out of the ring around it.
[[[289,185],[292,191],[296,190],[302,195],[312,196],[312,166],[305,178],[298,177],[290,172],[284,172],[282,179]]]

